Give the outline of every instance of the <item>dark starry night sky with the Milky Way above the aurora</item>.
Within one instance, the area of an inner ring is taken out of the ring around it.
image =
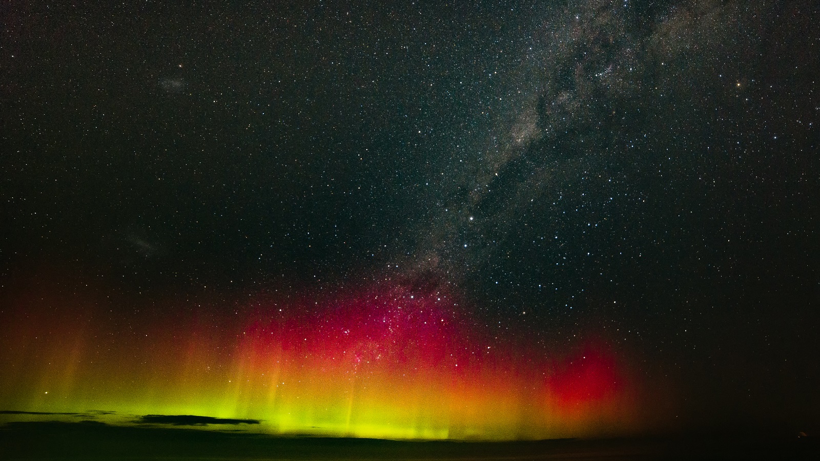
[[[618,331],[693,421],[818,424],[815,2],[0,16],[7,293],[435,279],[511,335]]]

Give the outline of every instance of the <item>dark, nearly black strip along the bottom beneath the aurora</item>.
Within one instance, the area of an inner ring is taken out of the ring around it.
[[[671,437],[527,442],[285,438],[101,423],[0,427],[0,459],[820,459],[811,438]]]

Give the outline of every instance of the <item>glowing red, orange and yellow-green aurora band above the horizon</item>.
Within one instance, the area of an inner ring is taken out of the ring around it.
[[[634,380],[603,342],[553,356],[513,348],[438,291],[380,288],[322,308],[257,300],[185,318],[154,308],[126,324],[99,299],[38,293],[13,304],[0,409],[112,410],[98,418],[115,423],[253,418],[261,423],[243,428],[393,439],[600,436],[638,420]]]

